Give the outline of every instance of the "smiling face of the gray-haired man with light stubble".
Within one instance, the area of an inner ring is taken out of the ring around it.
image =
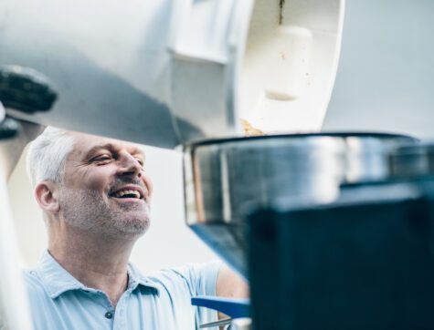
[[[59,189],[66,222],[111,237],[136,237],[149,226],[152,182],[134,144],[73,133],[74,149]]]

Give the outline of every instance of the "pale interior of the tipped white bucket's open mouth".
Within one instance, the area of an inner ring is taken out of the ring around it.
[[[344,0],[257,0],[238,116],[266,134],[318,131],[340,55]]]

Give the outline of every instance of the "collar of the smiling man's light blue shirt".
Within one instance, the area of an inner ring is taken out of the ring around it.
[[[63,268],[52,256],[45,251],[37,263],[36,272],[47,288],[48,294],[52,299],[57,298],[70,290],[91,291],[84,284],[81,284],[74,276]],[[158,284],[153,283],[149,278],[143,276],[140,271],[128,264],[128,288],[134,290],[138,285],[153,288],[157,294],[160,294]]]

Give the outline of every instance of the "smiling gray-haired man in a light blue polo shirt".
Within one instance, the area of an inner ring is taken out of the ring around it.
[[[129,263],[153,192],[136,145],[48,128],[27,167],[48,228],[48,251],[25,275],[37,329],[195,329],[217,314],[192,296],[247,294],[220,263],[149,277]]]

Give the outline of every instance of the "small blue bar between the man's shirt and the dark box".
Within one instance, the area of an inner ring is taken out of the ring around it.
[[[249,317],[250,300],[239,298],[223,298],[215,296],[196,296],[191,298],[191,304],[215,309],[232,318]]]

